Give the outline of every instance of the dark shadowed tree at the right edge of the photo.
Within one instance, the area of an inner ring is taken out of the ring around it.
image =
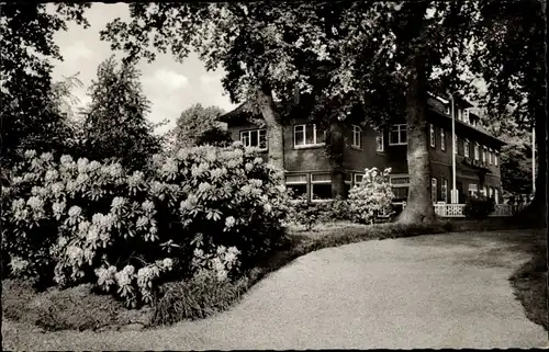
[[[482,50],[473,69],[486,82],[486,109],[492,121],[512,112],[517,127],[536,132],[537,178],[534,201],[525,211],[546,224],[547,217],[547,84],[546,2],[482,2],[478,29]]]

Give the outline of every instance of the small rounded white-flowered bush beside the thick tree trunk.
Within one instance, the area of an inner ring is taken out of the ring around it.
[[[362,182],[349,191],[349,213],[354,222],[373,224],[374,219],[392,209],[394,194],[389,174],[391,169],[380,172],[366,169]]]

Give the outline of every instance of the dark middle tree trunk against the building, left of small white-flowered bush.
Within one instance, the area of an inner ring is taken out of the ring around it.
[[[333,121],[328,126],[326,152],[332,167],[332,197],[345,197],[345,135],[339,120]]]

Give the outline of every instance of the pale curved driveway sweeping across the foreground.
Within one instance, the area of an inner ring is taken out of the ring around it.
[[[368,241],[301,257],[233,309],[200,321],[126,332],[16,331],[10,350],[535,348],[509,275],[528,256],[503,238],[460,232]],[[518,241],[517,241],[518,240]]]

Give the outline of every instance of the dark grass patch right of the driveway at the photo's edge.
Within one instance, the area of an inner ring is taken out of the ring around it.
[[[522,303],[526,317],[548,327],[548,282],[547,282],[547,242],[530,246],[531,259],[522,265],[509,279],[515,297]]]

